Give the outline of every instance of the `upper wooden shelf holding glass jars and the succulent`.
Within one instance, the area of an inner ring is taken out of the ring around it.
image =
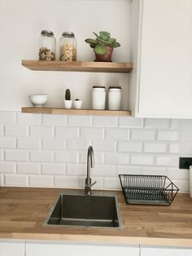
[[[31,70],[43,71],[81,71],[101,73],[130,73],[133,63],[85,62],[85,61],[45,61],[22,60],[22,65]]]

